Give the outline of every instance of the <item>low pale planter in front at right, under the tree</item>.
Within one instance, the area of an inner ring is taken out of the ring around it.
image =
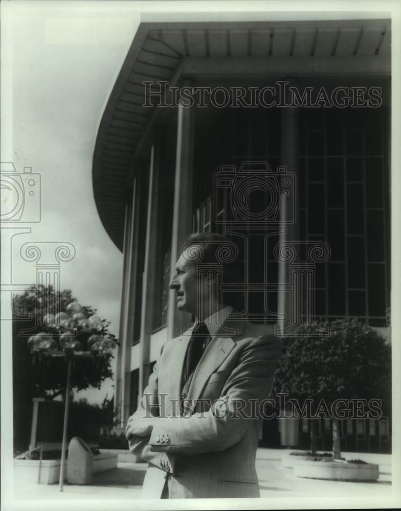
[[[378,479],[378,465],[374,463],[300,460],[294,464],[294,474],[308,479],[376,481]]]

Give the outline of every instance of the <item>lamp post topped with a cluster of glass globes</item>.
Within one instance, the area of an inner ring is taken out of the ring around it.
[[[103,321],[96,314],[85,317],[83,307],[77,301],[66,307],[66,312],[44,316],[47,332],[40,332],[28,339],[33,361],[64,357],[67,363],[63,435],[59,490],[63,491],[64,464],[70,412],[71,371],[75,359],[92,358],[95,361],[113,356],[117,341],[104,337]]]

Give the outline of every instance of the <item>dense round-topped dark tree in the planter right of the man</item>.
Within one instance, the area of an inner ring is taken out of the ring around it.
[[[338,399],[381,399],[382,406],[388,405],[391,350],[376,330],[354,319],[319,322],[318,326],[330,335],[315,337],[315,328],[301,326],[293,336],[283,338],[272,396],[287,393],[300,409],[309,401],[312,416],[327,416],[329,410],[333,458],[340,459],[339,420],[332,413],[333,403]],[[310,423],[310,449],[316,454],[316,421]]]

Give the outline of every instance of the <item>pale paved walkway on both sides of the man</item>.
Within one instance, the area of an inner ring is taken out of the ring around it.
[[[352,459],[379,463],[380,477],[372,483],[324,481],[294,476],[293,469],[281,465],[285,450],[258,449],[256,470],[259,476],[261,497],[305,498],[305,497],[364,497],[386,498],[391,496],[391,455],[344,453]],[[135,499],[140,496],[146,472],[145,463],[118,463],[118,468],[94,474],[90,486],[64,485],[61,493],[58,484],[27,484],[18,481],[16,499],[43,500],[107,500]]]

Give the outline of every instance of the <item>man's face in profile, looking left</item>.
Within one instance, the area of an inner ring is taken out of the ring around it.
[[[175,273],[170,281],[170,289],[175,290],[177,308],[197,316],[198,278],[196,263],[190,262],[187,250],[184,250],[175,265]]]

